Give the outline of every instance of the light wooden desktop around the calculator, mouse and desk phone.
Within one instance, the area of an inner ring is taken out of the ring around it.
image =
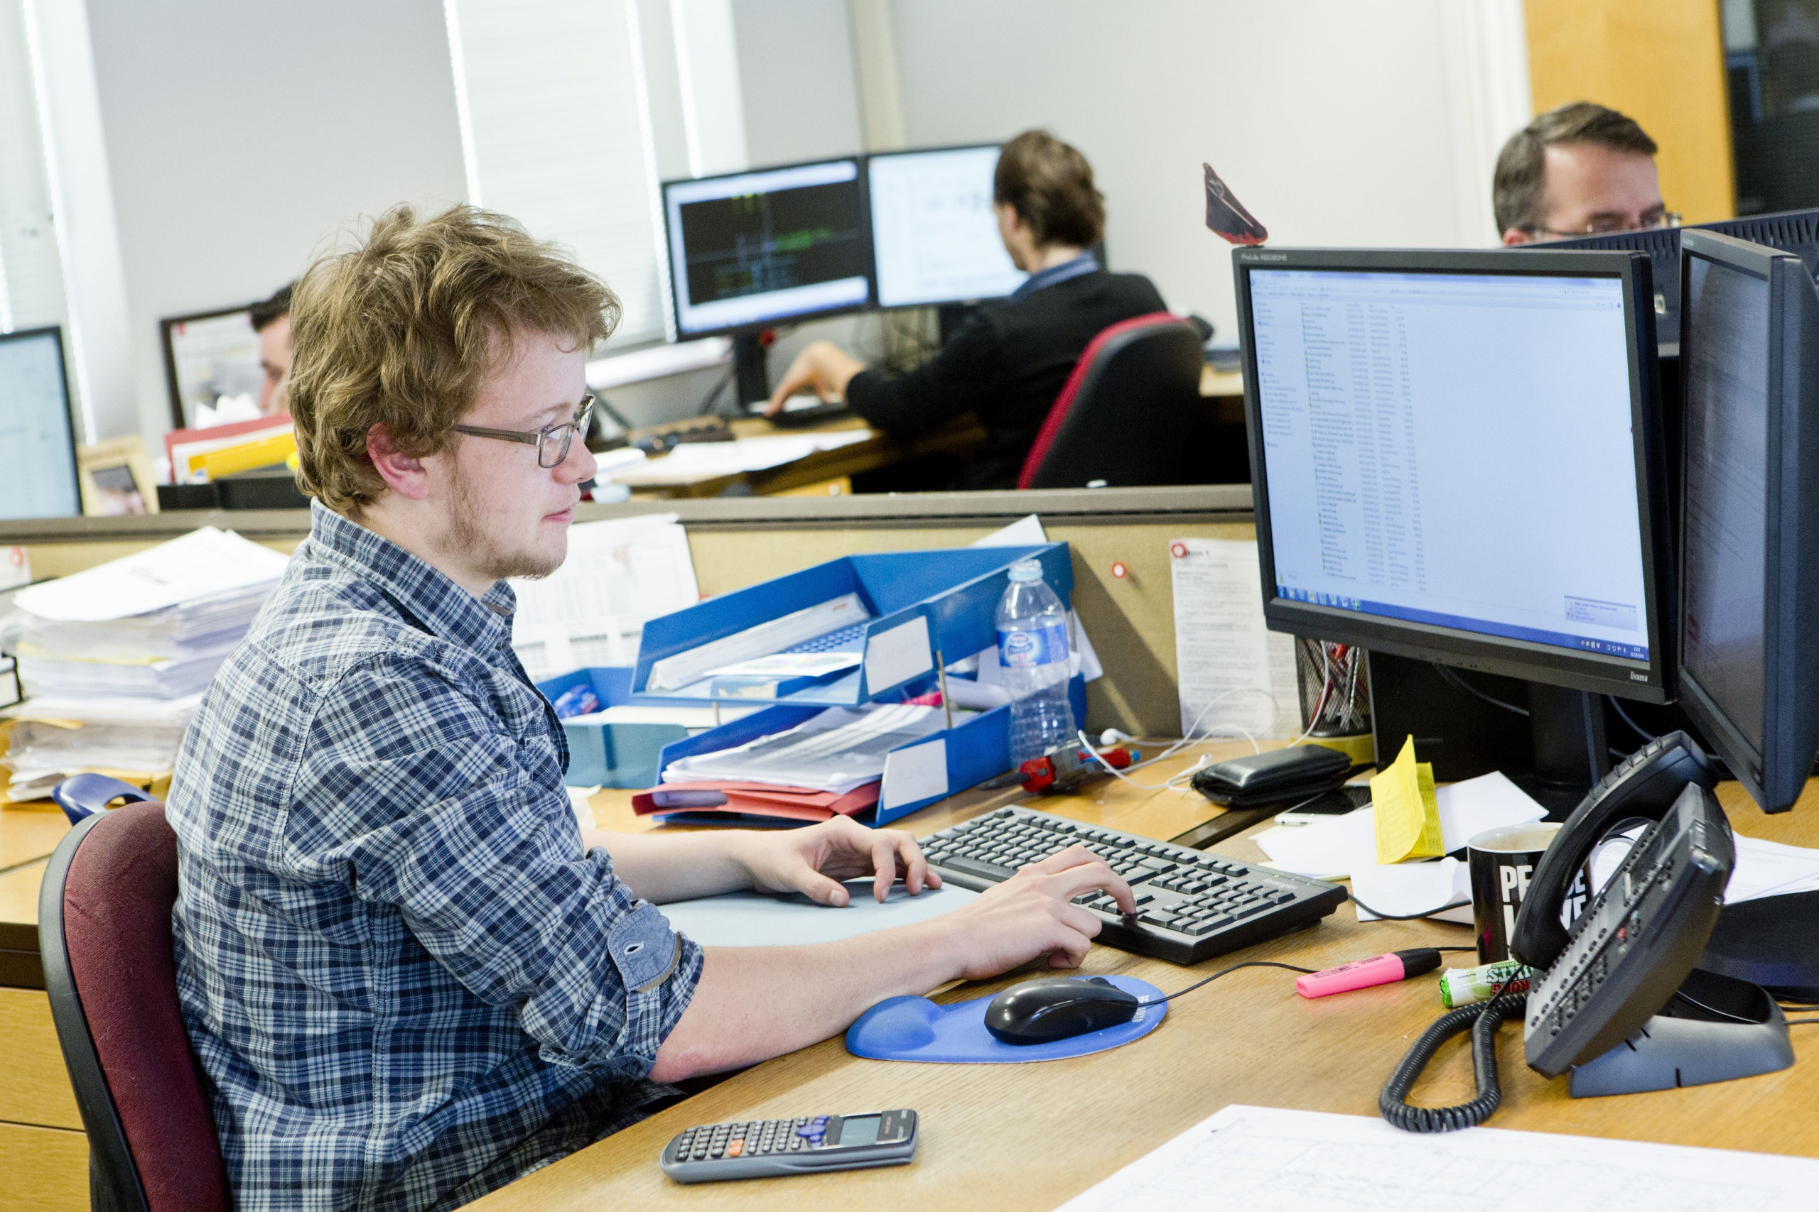
[[[1115,798],[1117,792],[1111,792]],[[1719,800],[1739,832],[1819,843],[1819,790],[1764,818],[1735,783]],[[1126,825],[1130,827],[1130,825]],[[1261,858],[1250,834],[1211,847]],[[1468,947],[1472,930],[1442,923],[1359,923],[1341,907],[1319,927],[1221,956],[1199,969],[1095,947],[1086,972],[1141,976],[1164,990],[1241,959],[1322,969],[1384,950]],[[1461,956],[1472,961],[1470,956]],[[942,994],[959,1001],[1024,974]],[[910,1065],[849,1056],[840,1039],[749,1068],[617,1136],[480,1199],[477,1208],[1053,1208],[1228,1103],[1377,1114],[1377,1090],[1413,1038],[1442,1012],[1433,978],[1302,1001],[1293,974],[1246,969],[1170,1005],[1168,1021],[1124,1048],[1035,1065]],[[1795,1027],[1794,1068],[1686,1090],[1570,1099],[1566,1079],[1523,1065],[1521,1034],[1501,1036],[1501,1128],[1610,1136],[1673,1145],[1819,1156],[1819,1028]],[[1468,1045],[1448,1043],[1417,1088],[1442,1105],[1472,1098]],[[884,1170],[762,1183],[678,1187],[657,1154],[697,1123],[913,1107],[922,1116],[915,1163]]]

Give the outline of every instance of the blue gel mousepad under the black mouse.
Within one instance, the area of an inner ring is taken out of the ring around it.
[[[1079,978],[1086,979],[1086,978]],[[937,1005],[928,998],[888,998],[846,1028],[846,1050],[875,1061],[931,1061],[939,1065],[1015,1065],[1019,1061],[1060,1061],[1091,1056],[1133,1039],[1142,1039],[1168,1018],[1162,990],[1131,976],[1104,978],[1153,1005],[1137,1007],[1137,1016],[1117,1027],[1100,1027],[1071,1039],[1048,1043],[1004,1043],[986,1030],[988,998]]]

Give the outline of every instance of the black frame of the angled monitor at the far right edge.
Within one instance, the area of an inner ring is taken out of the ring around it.
[[[1819,536],[1814,534],[1810,520],[1803,518],[1803,512],[1815,511],[1815,503],[1801,500],[1799,474],[1801,467],[1819,469],[1819,460],[1814,458],[1819,451],[1803,449],[1814,445],[1814,434],[1801,431],[1801,394],[1812,391],[1812,383],[1804,383],[1803,378],[1812,373],[1812,367],[1792,365],[1790,358],[1797,358],[1801,353],[1799,336],[1794,333],[1795,325],[1801,323],[1801,294],[1808,296],[1804,302],[1814,309],[1814,314],[1819,314],[1819,300],[1814,298],[1814,283],[1797,253],[1750,243],[1723,233],[1697,233],[1688,245],[1683,234],[1679,251],[1683,320],[1690,302],[1690,262],[1693,256],[1768,283],[1766,383],[1768,398],[1781,402],[1781,416],[1772,418],[1768,425],[1764,451],[1763,502],[1768,518],[1764,520],[1766,551],[1763,560],[1763,745],[1750,743],[1732,721],[1730,712],[1717,705],[1699,678],[1684,665],[1677,671],[1681,707],[1719,749],[1732,776],[1743,783],[1750,798],[1764,812],[1784,812],[1799,800],[1812,767],[1815,725],[1808,721],[1806,736],[1801,736],[1801,716],[1814,710],[1812,696],[1804,690],[1814,681],[1814,671],[1803,671],[1797,665],[1803,649],[1803,636],[1797,634],[1803,631],[1799,569],[1806,563],[1819,571],[1819,560],[1814,560],[1819,552],[1803,552],[1803,547],[1812,547]],[[1684,374],[1681,382],[1684,391]],[[1775,420],[1779,423],[1774,423]],[[1690,443],[1683,443],[1681,502],[1686,500],[1688,447]],[[1684,547],[1684,525],[1681,531],[1681,545]],[[1679,592],[1684,601],[1684,551],[1679,554]],[[1681,618],[1677,631],[1684,632],[1684,627],[1686,620]],[[1804,647],[1812,647],[1810,641]],[[1683,636],[1683,660],[1684,651]],[[1735,761],[1739,754],[1744,756],[1741,763]],[[1795,769],[1784,770],[1790,754],[1795,758]]]

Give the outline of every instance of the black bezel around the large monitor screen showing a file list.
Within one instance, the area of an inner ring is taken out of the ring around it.
[[[1623,283],[1626,311],[1624,358],[1630,373],[1632,451],[1635,456],[1637,522],[1643,545],[1643,594],[1650,654],[1646,669],[1623,658],[1601,658],[1563,651],[1528,640],[1486,636],[1433,623],[1381,620],[1375,616],[1291,601],[1275,592],[1275,551],[1270,532],[1268,471],[1262,449],[1262,403],[1257,391],[1257,351],[1250,340],[1250,273],[1306,271],[1381,271],[1381,273],[1459,273],[1523,278],[1613,278]],[[1666,703],[1673,694],[1675,631],[1664,620],[1675,618],[1677,581],[1670,574],[1673,554],[1666,516],[1666,454],[1661,427],[1661,391],[1657,378],[1653,287],[1648,258],[1641,253],[1559,251],[1506,256],[1501,249],[1275,249],[1239,247],[1231,251],[1237,289],[1239,345],[1244,367],[1244,425],[1251,462],[1253,518],[1257,529],[1257,565],[1261,574],[1264,620],[1271,631],[1297,636],[1355,643],[1366,651],[1413,660],[1442,661],[1466,671],[1524,678],[1575,690],[1615,694],[1646,703]],[[1646,300],[1646,305],[1644,305]]]

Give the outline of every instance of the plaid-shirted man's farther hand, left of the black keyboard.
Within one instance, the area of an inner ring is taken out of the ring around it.
[[[744,854],[751,887],[766,892],[802,892],[820,905],[848,903],[842,879],[871,876],[871,894],[882,901],[900,874],[910,896],[939,889],[940,876],[915,838],[900,829],[866,829],[849,816],[833,816],[782,834],[751,832]]]

